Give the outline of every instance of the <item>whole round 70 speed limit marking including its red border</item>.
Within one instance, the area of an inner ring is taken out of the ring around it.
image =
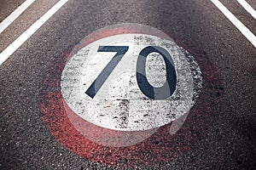
[[[108,165],[158,164],[187,152],[214,126],[223,88],[206,53],[180,44],[139,24],[84,37],[45,73],[39,106],[49,132]]]

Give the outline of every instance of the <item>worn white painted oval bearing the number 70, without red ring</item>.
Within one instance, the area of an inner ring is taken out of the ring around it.
[[[201,82],[194,57],[172,40],[120,34],[91,42],[74,54],[62,71],[61,93],[85,121],[138,131],[187,113]]]

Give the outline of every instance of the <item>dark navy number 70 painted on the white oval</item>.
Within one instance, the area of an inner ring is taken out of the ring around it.
[[[100,46],[97,52],[117,52],[113,59],[111,59],[102,70],[100,75],[96,77],[95,81],[92,82],[90,88],[88,88],[85,94],[89,95],[90,98],[94,98],[96,93],[102,88],[103,83],[107,80],[116,65],[128,51],[128,46]],[[158,53],[161,54],[166,63],[166,82],[160,88],[153,87],[146,76],[146,59],[148,54]],[[173,65],[172,56],[167,52],[165,48],[158,46],[148,46],[143,48],[137,58],[137,84],[144,95],[149,99],[166,99],[171,96],[176,88],[177,76]]]

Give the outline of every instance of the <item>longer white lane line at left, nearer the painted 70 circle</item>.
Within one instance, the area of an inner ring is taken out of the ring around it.
[[[18,37],[15,42],[12,42],[8,48],[5,48],[0,54],[0,65],[9,58],[9,56],[20,48],[20,46],[26,42],[26,40],[33,35],[38,29],[44,25],[44,23],[49,20],[49,18],[54,15],[68,0],[61,0],[49,9],[39,20],[37,20],[32,26],[30,26],[25,32],[23,32],[20,37]]]

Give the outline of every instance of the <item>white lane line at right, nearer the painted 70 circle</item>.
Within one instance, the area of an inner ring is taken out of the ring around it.
[[[253,32],[250,31],[246,26],[244,26],[240,20],[236,18],[234,14],[230,12],[222,3],[218,0],[211,0],[212,3],[229,19],[236,28],[241,31],[241,33],[247,38],[249,42],[253,44],[256,48],[256,37],[253,35]]]

